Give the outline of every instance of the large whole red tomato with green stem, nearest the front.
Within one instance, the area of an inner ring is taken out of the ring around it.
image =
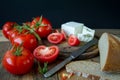
[[[25,48],[8,50],[2,59],[4,68],[12,74],[25,74],[29,72],[33,63],[34,56]]]

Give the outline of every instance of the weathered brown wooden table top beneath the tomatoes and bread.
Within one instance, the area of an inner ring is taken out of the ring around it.
[[[100,37],[103,32],[109,32],[112,34],[120,35],[120,29],[95,29],[96,30],[96,36]],[[27,73],[25,75],[13,75],[7,72],[3,66],[2,66],[2,58],[4,53],[10,49],[11,44],[9,43],[8,40],[6,40],[0,31],[0,80],[61,80],[60,74],[61,72],[65,71],[65,68],[61,69],[58,71],[56,74],[49,78],[44,78],[41,74],[38,74],[35,70],[32,70],[30,73]],[[98,58],[97,58],[98,59]],[[59,61],[56,61],[55,63],[51,64],[50,67],[55,66],[58,64]],[[72,78],[75,80],[75,78]],[[82,78],[79,78],[78,80],[85,80]]]

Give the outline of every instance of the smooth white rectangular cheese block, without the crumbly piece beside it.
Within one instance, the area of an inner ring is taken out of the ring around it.
[[[78,33],[82,33],[84,24],[78,22],[67,22],[61,25],[61,29],[69,36],[71,34],[77,36]]]

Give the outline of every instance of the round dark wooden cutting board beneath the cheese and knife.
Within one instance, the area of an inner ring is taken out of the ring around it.
[[[51,43],[49,43],[47,40],[43,40],[43,44],[46,46],[50,46],[53,45]],[[58,59],[66,59],[67,57],[69,57],[69,55],[71,54],[71,52],[77,50],[78,48],[80,48],[81,46],[83,46],[85,43],[81,42],[79,46],[70,46],[68,45],[67,41],[63,41],[61,44],[58,44],[57,46],[60,49],[60,54]],[[90,47],[89,49],[87,49],[85,51],[85,53],[81,56],[79,56],[76,60],[80,60],[80,59],[89,59],[89,58],[93,58],[98,56],[98,46],[93,45],[92,47]]]

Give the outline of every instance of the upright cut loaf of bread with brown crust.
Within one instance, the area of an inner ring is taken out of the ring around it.
[[[103,33],[99,39],[101,70],[120,72],[120,38],[109,33]]]

